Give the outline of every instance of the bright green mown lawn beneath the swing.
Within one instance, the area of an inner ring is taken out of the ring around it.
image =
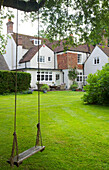
[[[41,132],[45,150],[20,165],[21,170],[109,169],[109,106],[84,105],[83,92],[41,93]],[[19,152],[34,146],[37,92],[17,96]],[[14,95],[0,96],[0,169],[13,140]]]

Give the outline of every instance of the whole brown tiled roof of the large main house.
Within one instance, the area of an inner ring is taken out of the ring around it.
[[[33,56],[38,52],[38,47],[35,46],[32,42],[33,39],[38,39],[38,37],[35,36],[29,36],[29,35],[24,35],[24,34],[18,34],[20,38],[22,38],[22,47],[24,49],[29,49],[28,52],[23,56],[23,58],[19,61],[19,63],[24,63],[30,61]],[[12,34],[13,39],[16,42],[16,33]],[[48,46],[52,51],[59,53],[65,51],[63,43],[65,42],[64,40],[59,41],[54,41],[53,43],[50,43],[47,39],[44,38],[39,38],[41,40],[42,44],[45,44]],[[39,48],[41,48],[42,45],[40,45]],[[87,44],[82,44],[79,46],[73,46],[73,47],[68,47],[67,48],[70,51],[75,51],[75,52],[84,52],[84,53],[91,53],[94,49],[94,46],[90,45],[88,46]]]

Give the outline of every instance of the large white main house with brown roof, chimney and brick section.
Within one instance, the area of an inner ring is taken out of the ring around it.
[[[87,44],[82,44],[70,47],[65,52],[64,40],[53,48],[57,41],[49,43],[43,38],[38,39],[34,36],[14,33],[12,21],[7,23],[7,33],[11,38],[8,39],[4,55],[6,63],[10,70],[16,70],[17,50],[17,70],[31,74],[31,87],[36,88],[36,83],[40,80],[40,83],[51,86],[66,84],[66,87],[69,88],[72,82],[68,78],[68,71],[74,67],[78,71],[78,86],[81,88],[84,85],[86,75],[89,74],[87,63],[90,59],[89,55],[94,49],[93,46],[89,48]],[[38,52],[40,70],[38,70]]]

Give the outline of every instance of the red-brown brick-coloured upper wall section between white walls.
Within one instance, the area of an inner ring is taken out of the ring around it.
[[[77,67],[83,69],[83,65],[77,64],[78,55],[76,53],[64,53],[57,55],[58,69],[70,69]]]

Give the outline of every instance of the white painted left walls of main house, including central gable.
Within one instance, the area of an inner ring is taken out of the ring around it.
[[[6,54],[4,58],[6,60],[7,65],[10,70],[16,69],[16,43],[9,34],[10,38],[8,38],[7,46],[6,46]],[[21,69],[25,72],[31,74],[31,87],[37,88],[37,75],[38,75],[38,52],[33,56],[33,58],[25,63],[19,64],[19,61],[26,54],[29,49],[22,48],[22,45],[18,46],[18,55],[17,55],[17,69]],[[61,85],[63,83],[63,73],[61,70],[57,69],[56,56],[54,52],[48,48],[46,45],[43,45],[39,50],[39,56],[44,56],[44,62],[40,62],[40,73],[44,74],[44,80],[40,80],[42,84],[48,85]],[[59,75],[59,80],[56,80],[56,75]],[[49,75],[51,78],[49,78]],[[41,75],[42,76],[42,75]],[[45,77],[48,80],[45,80]],[[50,80],[49,80],[50,79]]]

